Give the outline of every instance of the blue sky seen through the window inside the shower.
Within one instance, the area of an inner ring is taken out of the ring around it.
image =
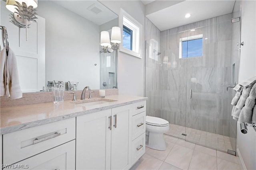
[[[203,39],[192,39],[182,42],[182,58],[202,56]]]

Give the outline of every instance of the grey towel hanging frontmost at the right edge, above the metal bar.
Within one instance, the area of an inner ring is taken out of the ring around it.
[[[252,86],[250,94],[246,99],[245,105],[242,108],[238,121],[245,123],[252,123],[252,110],[255,106],[256,99],[256,84]]]

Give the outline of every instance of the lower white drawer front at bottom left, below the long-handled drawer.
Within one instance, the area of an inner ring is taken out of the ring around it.
[[[5,169],[31,170],[74,170],[75,169],[75,140],[47,150]]]

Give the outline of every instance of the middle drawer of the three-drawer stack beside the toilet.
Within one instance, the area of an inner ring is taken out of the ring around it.
[[[146,132],[146,111],[132,116],[132,140]]]

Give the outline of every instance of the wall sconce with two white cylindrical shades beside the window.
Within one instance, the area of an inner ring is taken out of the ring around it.
[[[111,43],[112,44],[111,44]],[[118,50],[121,43],[121,29],[120,27],[112,27],[111,40],[108,31],[101,31],[100,33],[100,45],[103,46],[101,51],[106,53],[112,53],[114,50]]]

